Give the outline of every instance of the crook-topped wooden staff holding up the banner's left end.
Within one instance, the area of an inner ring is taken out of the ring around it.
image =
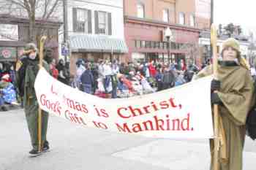
[[[46,36],[42,36],[39,44],[39,69],[42,68],[42,60],[44,58],[43,49]],[[42,151],[42,109],[38,107],[38,151]]]

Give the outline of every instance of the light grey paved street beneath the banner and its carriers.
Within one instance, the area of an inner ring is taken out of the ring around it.
[[[208,140],[148,139],[85,128],[50,116],[51,151],[29,158],[22,109],[0,112],[0,170],[206,170]],[[246,140],[244,170],[255,170],[256,142]]]

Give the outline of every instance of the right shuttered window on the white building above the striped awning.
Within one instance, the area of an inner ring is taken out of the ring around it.
[[[111,13],[103,11],[94,11],[95,16],[95,34],[112,34]]]

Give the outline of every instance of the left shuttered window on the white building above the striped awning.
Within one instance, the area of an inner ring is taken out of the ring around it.
[[[91,33],[91,10],[73,8],[73,31]]]

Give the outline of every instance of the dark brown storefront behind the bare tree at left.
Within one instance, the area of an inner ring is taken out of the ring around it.
[[[44,31],[48,36],[46,47],[53,49],[53,55],[59,58],[59,22],[42,22],[36,20],[36,33]],[[38,36],[37,39],[40,37]],[[12,15],[0,15],[0,61],[15,63],[23,48],[29,42],[29,20]]]

